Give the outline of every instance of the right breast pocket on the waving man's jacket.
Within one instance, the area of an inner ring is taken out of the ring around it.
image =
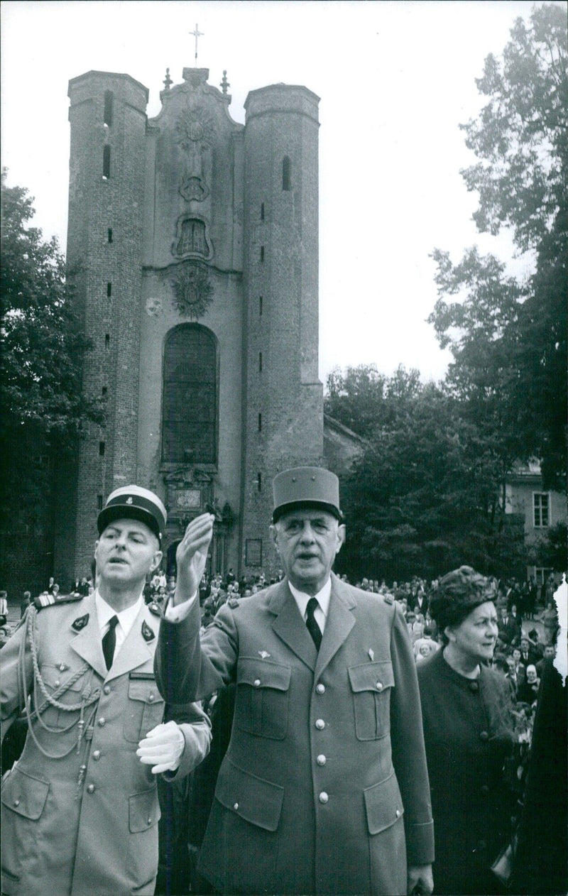
[[[357,740],[385,737],[391,730],[392,662],[363,663],[348,672]]]

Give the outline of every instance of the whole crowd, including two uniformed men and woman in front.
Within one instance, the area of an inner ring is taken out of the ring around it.
[[[3,750],[3,771],[11,771],[2,800],[4,856],[12,867],[3,872],[3,892],[23,892],[22,881],[26,892],[41,892],[47,879],[74,896],[90,892],[96,878],[101,893],[133,885],[136,892],[227,896],[433,887],[454,896],[498,893],[504,884],[492,866],[515,829],[526,853],[513,874],[517,892],[548,892],[551,880],[564,880],[564,840],[551,834],[552,852],[539,840],[535,852],[534,838],[522,834],[523,795],[539,789],[529,755],[537,713],[546,715],[541,682],[550,681],[555,655],[553,578],[538,588],[461,566],[435,581],[364,577],[352,585],[346,575],[331,577],[345,538],[337,479],[314,468],[280,477],[271,530],[282,568],[271,576],[206,573],[209,514],[189,524],[177,576],[167,574],[158,549],[165,509],[132,486],[110,495],[99,514],[90,573],[63,590],[50,579],[39,595],[24,592],[15,631],[0,591],[3,720],[19,732]],[[128,665],[134,614],[138,646]],[[126,630],[120,640],[115,625]],[[70,635],[79,637],[70,642]],[[73,643],[82,646],[70,652]],[[76,652],[87,664],[74,669]],[[555,681],[552,690],[557,700]],[[546,752],[550,722],[543,724],[537,772],[550,784],[558,768]],[[54,745],[65,749],[53,754]],[[120,788],[110,802],[82,796],[104,789],[98,772],[107,754],[123,763],[135,791],[126,795],[125,821],[116,814]],[[45,780],[46,797],[49,788],[54,796],[75,789],[57,870],[31,833],[34,823],[43,825],[49,839],[63,804],[28,817],[20,806],[31,805],[32,779],[34,793]],[[551,790],[554,818],[565,814],[559,789]],[[542,819],[543,830],[548,822]],[[103,830],[112,839],[95,858],[89,844]],[[129,856],[121,866],[133,831],[138,865]],[[75,844],[69,850],[67,836]],[[17,846],[22,837],[25,850]],[[158,842],[159,861],[152,858]]]

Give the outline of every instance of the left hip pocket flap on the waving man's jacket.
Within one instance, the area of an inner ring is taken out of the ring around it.
[[[257,778],[225,760],[219,771],[215,797],[221,806],[264,831],[276,831],[280,823],[284,788]]]

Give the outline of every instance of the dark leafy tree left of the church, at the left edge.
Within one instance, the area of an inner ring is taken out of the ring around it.
[[[0,264],[0,533],[2,581],[39,588],[51,549],[54,464],[103,409],[82,394],[89,348],[73,314],[56,239],[29,226],[28,191],[3,173]],[[22,568],[22,566],[28,568]]]

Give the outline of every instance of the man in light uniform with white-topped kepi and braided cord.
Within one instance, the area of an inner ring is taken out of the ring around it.
[[[211,737],[202,710],[166,708],[154,680],[159,616],[142,589],[165,525],[152,492],[113,492],[99,513],[97,590],[38,599],[2,650],[3,723],[22,709],[28,719],[2,785],[3,893],[154,892],[156,776],[187,774]]]

